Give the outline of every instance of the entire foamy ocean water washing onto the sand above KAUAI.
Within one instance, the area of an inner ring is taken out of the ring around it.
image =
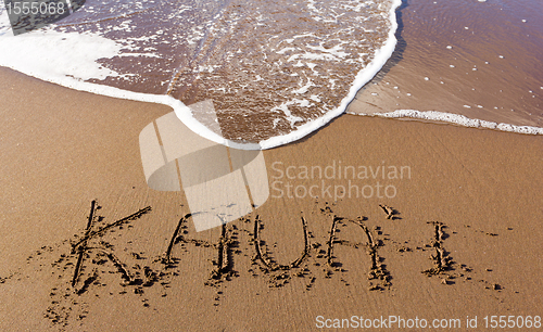
[[[222,141],[222,132],[262,149],[300,139],[345,110],[542,133],[538,1],[88,0],[18,36],[2,8],[0,65],[164,103],[206,138]],[[507,92],[484,90],[494,86]],[[520,102],[518,91],[526,92]],[[187,107],[204,100],[213,101],[219,131],[205,112]]]

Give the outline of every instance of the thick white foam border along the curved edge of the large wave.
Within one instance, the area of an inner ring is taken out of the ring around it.
[[[89,82],[90,79],[104,79],[108,76],[116,77],[118,78],[119,74],[116,72],[111,72],[106,73],[106,71],[103,71],[103,67],[101,65],[98,65],[98,61],[100,58],[103,59],[111,59],[113,56],[116,56],[117,52],[121,50],[121,46],[116,44],[115,41],[106,39],[104,37],[101,37],[100,35],[92,35],[89,34],[86,38],[88,38],[87,43],[94,44],[96,49],[100,49],[99,46],[100,43],[103,43],[103,50],[101,50],[103,53],[97,53],[94,54],[98,59],[96,59],[93,62],[90,61],[89,63],[83,63],[85,65],[86,72],[90,72],[94,75],[99,75],[100,77],[77,77],[75,73],[63,73],[62,71],[60,72],[54,72],[54,71],[43,71],[43,67],[47,67],[47,63],[39,63],[39,61],[36,61],[36,59],[25,59],[25,62],[21,62],[21,59],[17,58],[15,54],[8,54],[8,56],[0,56],[0,65],[9,67],[13,71],[17,71],[20,73],[23,73],[28,76],[33,76],[35,78],[41,79],[43,81],[56,84],[66,88],[71,88],[74,90],[78,91],[86,91],[86,92],[91,92],[96,93],[99,95],[106,95],[106,97],[112,97],[112,98],[119,98],[119,99],[127,99],[127,100],[134,100],[134,101],[140,101],[140,102],[153,102],[153,103],[161,103],[167,106],[171,106],[177,117],[186,125],[188,126],[192,131],[197,132],[198,135],[212,140],[216,143],[220,144],[226,144],[228,146],[232,146],[236,149],[241,149],[241,150],[265,150],[265,149],[273,149],[276,146],[280,146],[283,144],[288,144],[290,142],[296,141],[307,135],[310,135],[313,131],[318,130],[329,122],[333,120],[336,117],[341,116],[349,104],[354,100],[356,97],[357,91],[366,85],[369,80],[371,80],[377,73],[381,69],[381,67],[384,65],[384,63],[390,59],[390,56],[393,54],[395,44],[396,44],[396,39],[395,39],[395,31],[397,28],[397,23],[396,23],[396,9],[401,5],[402,1],[401,0],[390,0],[391,5],[390,10],[388,13],[388,21],[390,23],[390,29],[388,30],[388,38],[386,41],[382,43],[382,46],[375,51],[374,59],[369,62],[369,64],[362,69],[359,69],[356,75],[354,75],[354,79],[352,84],[349,86],[350,88],[344,91],[344,97],[340,100],[338,103],[338,106],[333,107],[331,111],[326,112],[324,115],[320,115],[316,119],[313,119],[311,116],[307,118],[302,118],[298,116],[293,116],[291,114],[291,111],[287,107],[285,112],[285,119],[291,122],[291,129],[288,131],[288,133],[280,135],[280,136],[272,136],[265,133],[264,137],[268,137],[267,139],[261,140],[258,142],[252,142],[252,141],[245,141],[243,140],[235,140],[235,139],[225,139],[222,136],[217,135],[213,129],[207,128],[206,126],[202,125],[198,120],[198,115],[192,114],[192,112],[189,108],[189,105],[186,105],[184,102],[180,100],[173,98],[169,93],[168,94],[153,94],[153,93],[143,93],[143,92],[135,92],[130,90],[124,90],[114,86],[109,86],[109,85],[97,85]],[[28,47],[30,44],[38,44],[39,46],[39,38],[40,36],[38,35],[39,31],[34,31],[35,35],[31,33],[26,35],[27,38],[33,38],[37,37],[37,39],[34,41],[34,43],[27,42],[25,43],[17,43],[16,40],[18,39],[13,39],[13,37],[5,37],[5,38],[12,38],[12,40],[7,40],[4,43],[7,43],[7,48],[12,49],[12,50],[17,50],[18,52],[22,53],[35,53],[35,52],[43,52],[46,53],[50,59],[48,61],[56,61],[59,62],[59,59],[63,55],[65,52],[59,52],[59,50],[48,50],[43,43],[41,47],[43,47],[43,50],[40,50],[39,47],[37,49],[33,49],[29,47],[29,49],[26,49],[25,47]],[[68,37],[62,37],[61,33],[55,33],[55,31],[49,31],[51,34],[51,40],[50,43],[52,43],[52,40],[59,40],[62,38],[62,40],[74,40],[76,39],[77,36],[80,34],[67,34]],[[47,35],[47,31],[45,33]],[[65,34],[66,35],[66,34]],[[41,38],[47,38],[45,36],[41,36]],[[11,43],[10,43],[11,41]],[[61,49],[60,47],[58,47]],[[73,50],[77,50],[76,46],[72,46]],[[49,51],[49,52],[47,52]],[[80,51],[85,51],[81,49]],[[51,53],[54,52],[54,53]],[[67,61],[71,59],[67,58]],[[89,61],[91,59],[87,59]],[[18,61],[18,62],[17,62]],[[35,64],[36,62],[36,64]],[[56,66],[60,66],[60,63],[56,63]],[[105,73],[102,73],[105,72]],[[54,74],[53,74],[54,73]],[[86,75],[89,75],[86,73]],[[124,75],[130,75],[130,74],[124,74]],[[294,99],[295,100],[295,99]],[[203,102],[205,100],[201,100],[200,102]],[[213,101],[213,100],[212,100]],[[305,100],[307,102],[307,100]],[[267,113],[274,113],[274,112],[279,112],[282,110],[283,104],[289,104],[292,101],[286,100],[281,105],[276,105],[275,107],[268,110]],[[294,103],[295,104],[295,103]],[[277,110],[279,111],[277,111]],[[214,111],[214,110],[213,110]],[[230,116],[231,117],[231,116]],[[300,118],[301,120],[304,122],[303,125],[298,126],[294,128],[295,124],[295,118]],[[282,118],[280,118],[282,119]],[[267,126],[269,126],[269,122]],[[274,122],[274,128],[276,127],[276,123]],[[261,128],[263,129],[263,128]],[[228,136],[227,133],[226,136]]]

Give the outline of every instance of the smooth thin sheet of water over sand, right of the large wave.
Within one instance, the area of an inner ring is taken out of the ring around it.
[[[352,113],[439,111],[543,127],[543,2],[409,0],[399,47]]]

